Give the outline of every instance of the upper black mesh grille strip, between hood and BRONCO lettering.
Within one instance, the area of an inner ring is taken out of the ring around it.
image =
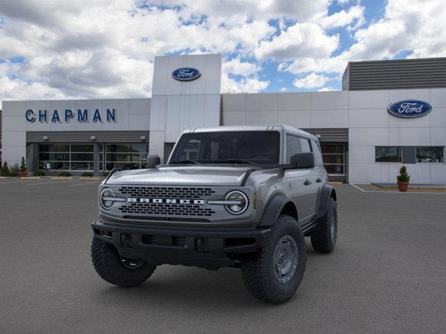
[[[122,186],[119,191],[124,195],[147,198],[192,198],[211,196],[215,191],[210,188],[174,186]]]

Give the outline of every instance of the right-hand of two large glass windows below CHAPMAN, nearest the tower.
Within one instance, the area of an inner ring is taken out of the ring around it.
[[[105,144],[105,170],[146,168],[147,154],[148,144]]]

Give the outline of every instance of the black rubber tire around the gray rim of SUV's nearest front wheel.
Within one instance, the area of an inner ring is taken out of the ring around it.
[[[297,246],[297,266],[287,282],[281,282],[275,273],[275,250],[278,241],[291,237]],[[241,261],[246,289],[256,299],[270,303],[288,301],[298,289],[305,272],[305,238],[298,222],[291,216],[281,215],[272,225],[266,246]]]

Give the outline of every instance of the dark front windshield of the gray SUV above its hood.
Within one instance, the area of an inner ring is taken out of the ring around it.
[[[183,134],[170,164],[279,164],[277,131]]]

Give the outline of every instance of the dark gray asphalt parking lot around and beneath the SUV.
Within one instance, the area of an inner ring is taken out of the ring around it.
[[[337,248],[307,241],[298,293],[269,305],[238,269],[102,281],[90,260],[99,182],[0,180],[0,333],[445,333],[446,192],[337,185]]]

